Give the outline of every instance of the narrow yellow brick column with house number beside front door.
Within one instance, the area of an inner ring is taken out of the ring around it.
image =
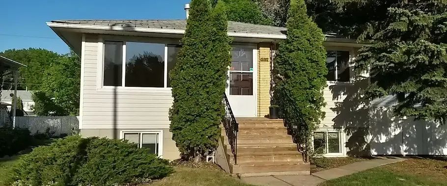
[[[257,46],[257,115],[269,114],[270,106],[270,43],[259,43]]]

